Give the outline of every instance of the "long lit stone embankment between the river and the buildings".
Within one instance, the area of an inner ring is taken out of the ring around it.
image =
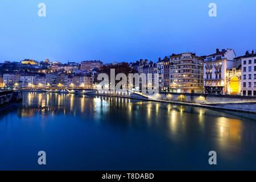
[[[54,92],[54,93],[73,93],[87,94],[91,96],[124,97],[145,101],[168,102],[176,105],[189,105],[196,107],[207,107],[210,109],[225,109],[256,113],[256,97],[246,96],[227,96],[212,94],[189,94],[189,93],[156,93],[141,94],[138,92],[116,92],[110,93],[102,90],[93,89],[26,89],[24,92]]]

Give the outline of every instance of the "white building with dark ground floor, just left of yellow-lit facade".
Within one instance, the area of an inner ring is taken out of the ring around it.
[[[204,60],[204,89],[207,94],[227,94],[228,70],[235,67],[233,49],[216,49],[216,53],[206,56]]]

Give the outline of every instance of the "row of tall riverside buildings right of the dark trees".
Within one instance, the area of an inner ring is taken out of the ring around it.
[[[254,51],[239,57],[233,49],[216,49],[208,56],[188,52],[159,58],[157,63],[139,60],[130,66],[146,75],[158,73],[161,92],[256,96]]]

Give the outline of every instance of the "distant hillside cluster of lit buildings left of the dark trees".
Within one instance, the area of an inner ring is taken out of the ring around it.
[[[6,64],[11,65],[11,63]],[[22,72],[21,68],[24,65],[36,68],[37,71]],[[23,60],[19,64],[15,64],[14,71],[2,74],[0,86],[4,88],[68,87],[91,89],[94,75],[102,65],[103,63],[99,60],[82,61],[81,64],[73,62],[68,64],[51,63],[48,59],[42,63],[37,63],[34,60]]]

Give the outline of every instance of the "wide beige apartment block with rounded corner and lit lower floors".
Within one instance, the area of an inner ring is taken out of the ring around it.
[[[204,92],[204,58],[195,53],[180,53],[170,56],[170,92]]]

